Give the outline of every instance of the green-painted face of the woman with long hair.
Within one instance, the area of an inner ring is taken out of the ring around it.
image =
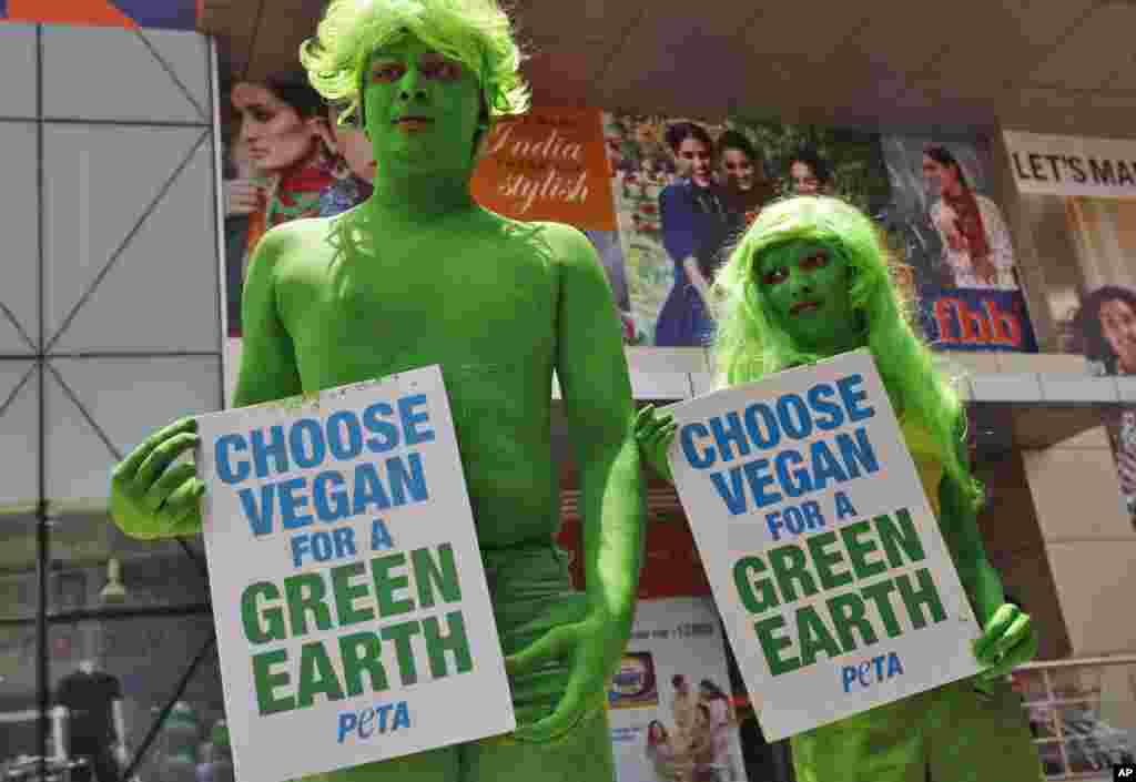
[[[835,247],[803,240],[766,250],[754,266],[774,321],[800,350],[822,356],[858,347],[850,271]]]

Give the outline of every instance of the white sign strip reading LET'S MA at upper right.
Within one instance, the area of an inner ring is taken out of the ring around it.
[[[1136,198],[1136,139],[1086,139],[1004,131],[1018,191]]]

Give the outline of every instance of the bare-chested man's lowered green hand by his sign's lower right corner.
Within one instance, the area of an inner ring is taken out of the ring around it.
[[[546,707],[518,708],[513,738],[529,742],[553,741],[603,709],[630,627],[630,617],[620,619],[594,612],[583,622],[553,627],[527,648],[507,657],[506,669],[513,676],[535,674],[562,660],[571,665],[568,685],[552,714],[535,718]]]

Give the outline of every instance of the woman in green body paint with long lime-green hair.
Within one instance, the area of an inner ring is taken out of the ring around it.
[[[1036,782],[1041,764],[1025,714],[1004,680],[1037,652],[1028,615],[1004,602],[976,514],[982,486],[964,443],[964,410],[912,332],[871,221],[834,198],[767,206],[715,281],[721,321],[719,385],[867,347],[879,368],[924,489],[983,634],[988,665],[954,682],[793,737],[799,782]],[[673,480],[675,422],[645,407],[644,458]],[[692,519],[696,524],[698,519]]]

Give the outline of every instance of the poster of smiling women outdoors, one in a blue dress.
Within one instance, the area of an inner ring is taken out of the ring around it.
[[[845,198],[870,215],[887,203],[877,138],[743,117],[604,115],[634,343],[709,343],[709,286],[729,248],[769,201]]]

